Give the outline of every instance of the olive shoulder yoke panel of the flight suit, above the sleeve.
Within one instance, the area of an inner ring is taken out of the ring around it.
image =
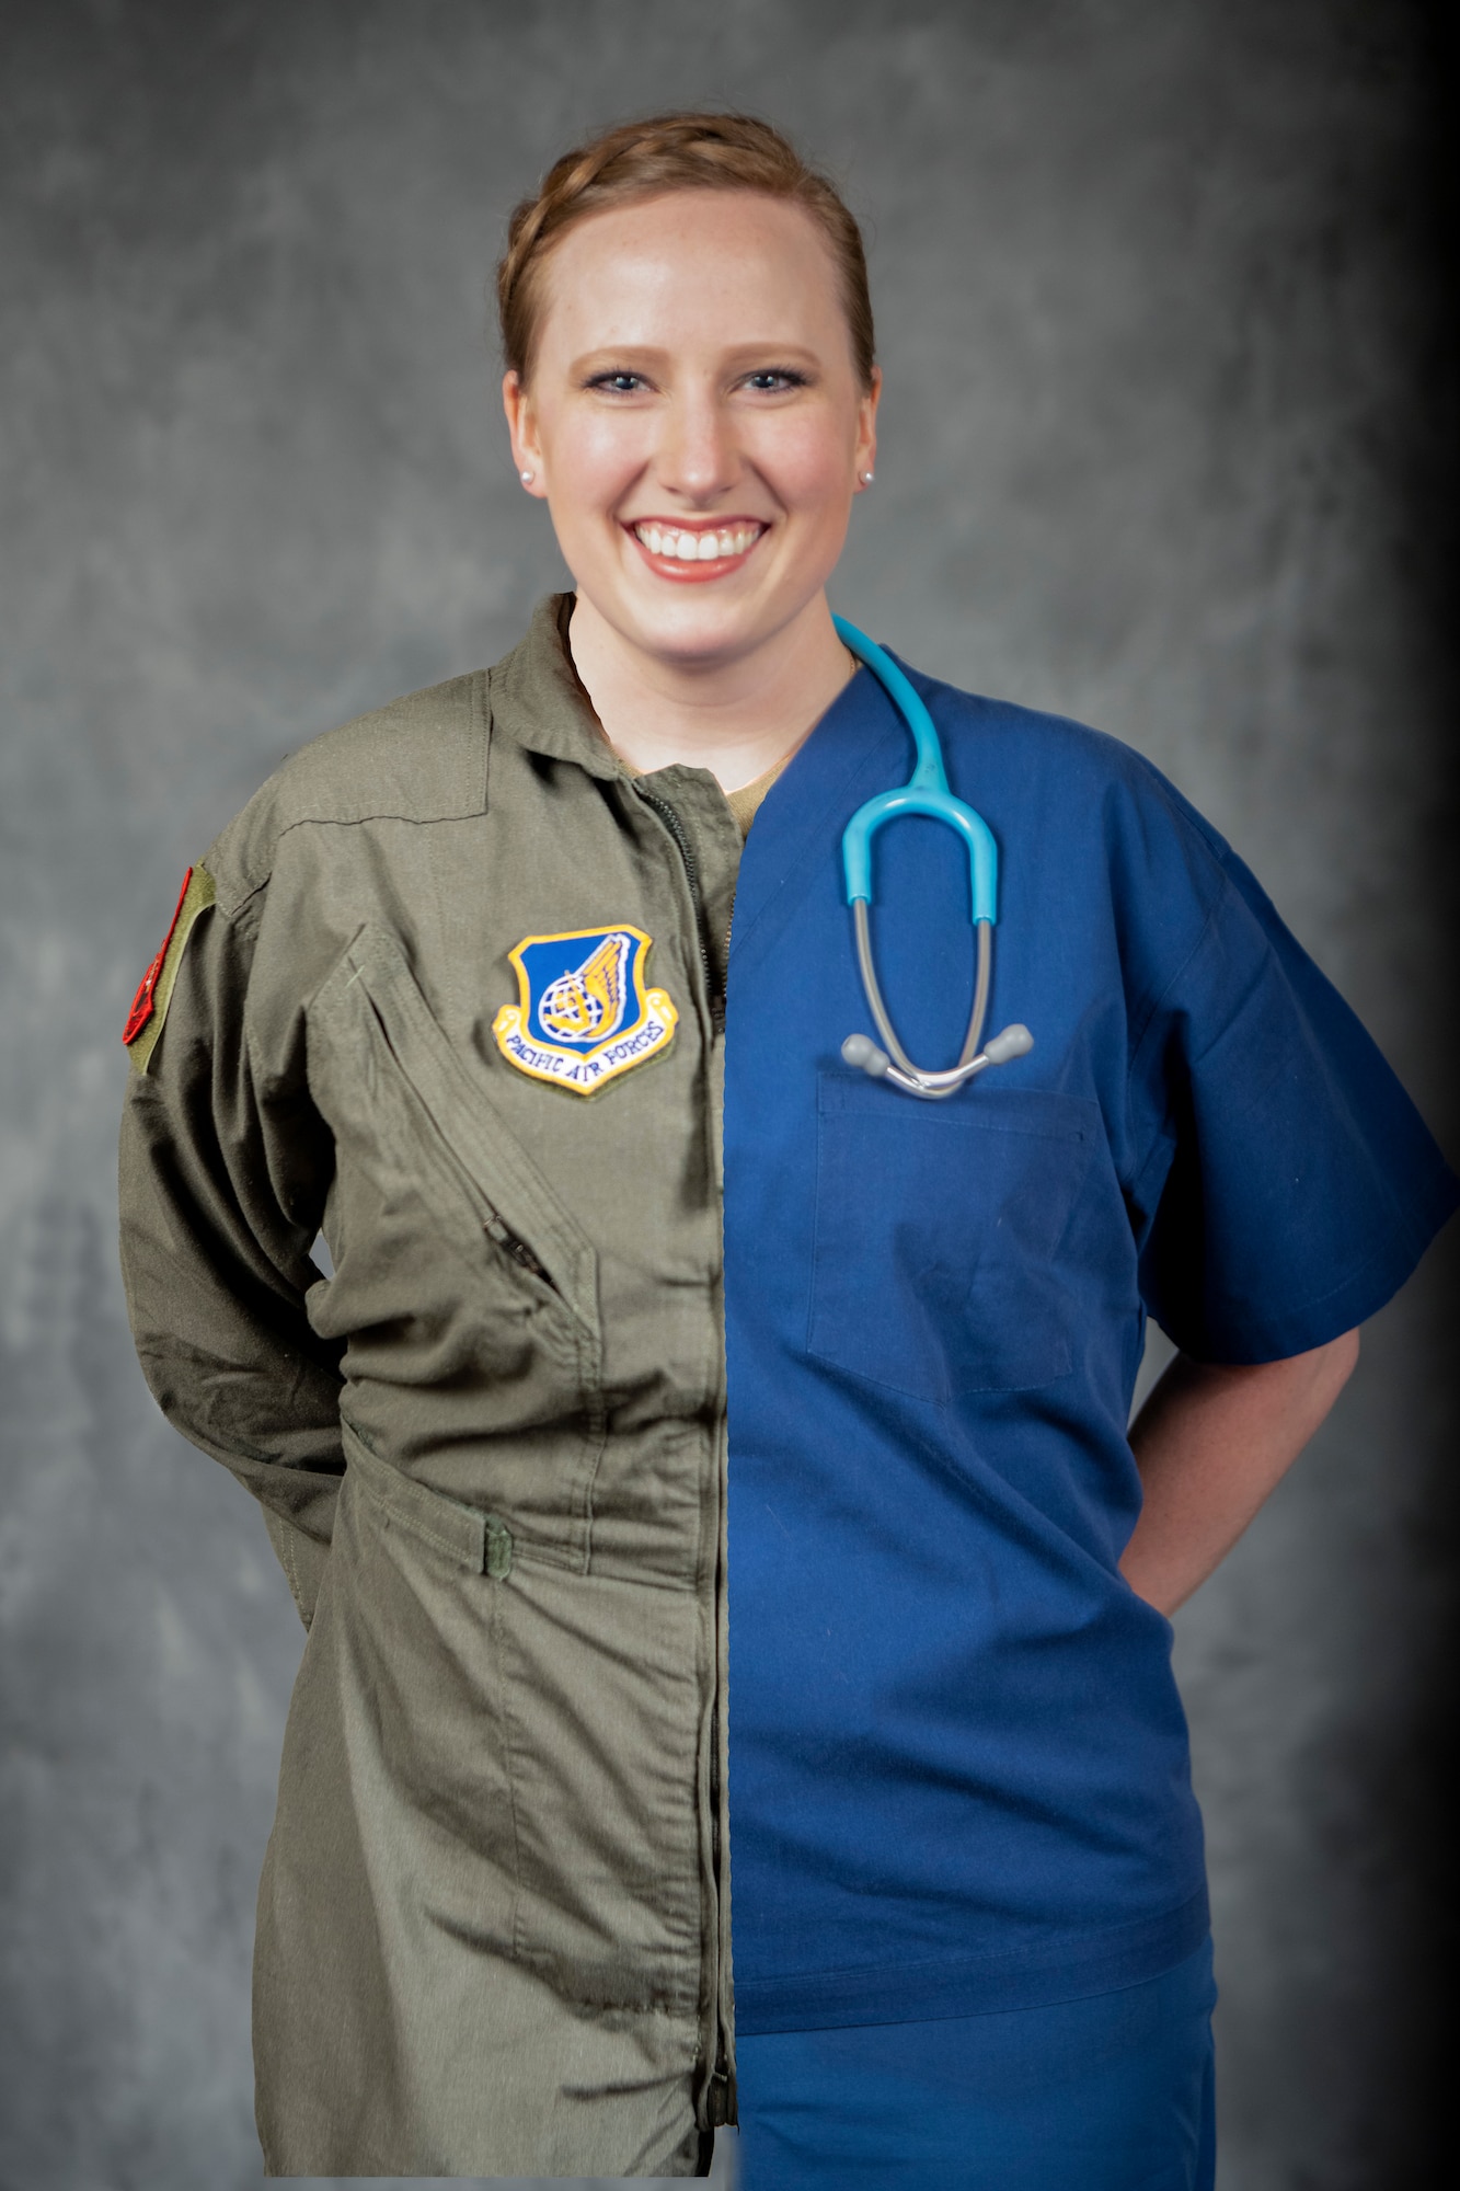
[[[213,839],[204,865],[235,914],[270,881],[292,830],[447,822],[487,804],[487,673],[408,692],[311,738]]]

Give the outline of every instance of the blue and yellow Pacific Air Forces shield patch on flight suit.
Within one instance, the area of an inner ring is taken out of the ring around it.
[[[642,929],[524,936],[509,957],[520,1001],[502,1006],[491,1032],[520,1074],[592,1096],[669,1047],[680,1012],[662,988],[645,988]]]

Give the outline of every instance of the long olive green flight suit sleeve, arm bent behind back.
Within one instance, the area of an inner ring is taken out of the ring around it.
[[[228,918],[206,890],[158,955],[121,1135],[121,1262],[158,1407],[259,1499],[309,1621],[344,1472],[342,1350],[307,1312],[333,1144],[305,1085],[303,1014],[289,1065],[261,1080],[250,1058],[259,898]]]

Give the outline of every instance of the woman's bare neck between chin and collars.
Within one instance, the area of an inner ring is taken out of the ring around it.
[[[666,662],[625,640],[579,594],[572,664],[605,736],[631,767],[686,762],[739,791],[794,754],[857,664],[818,594],[754,653],[732,662]]]

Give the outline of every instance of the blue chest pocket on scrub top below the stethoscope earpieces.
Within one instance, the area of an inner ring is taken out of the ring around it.
[[[919,1400],[1065,1376],[1059,1244],[1098,1133],[1043,1089],[925,1104],[822,1074],[809,1352]]]

